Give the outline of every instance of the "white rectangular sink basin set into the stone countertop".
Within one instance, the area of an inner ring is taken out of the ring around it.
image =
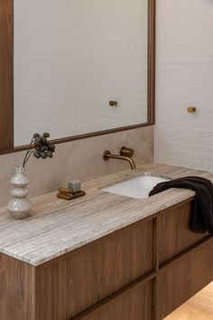
[[[153,175],[141,175],[122,183],[110,185],[102,190],[108,193],[116,193],[136,199],[145,199],[149,197],[149,193],[156,184],[169,180],[170,179]]]

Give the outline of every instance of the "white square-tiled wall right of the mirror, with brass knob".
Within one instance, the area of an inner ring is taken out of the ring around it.
[[[212,33],[213,1],[157,1],[157,162],[213,170]]]

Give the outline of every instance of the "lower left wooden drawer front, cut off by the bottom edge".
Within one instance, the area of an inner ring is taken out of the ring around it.
[[[152,281],[138,284],[82,317],[70,320],[152,320]]]

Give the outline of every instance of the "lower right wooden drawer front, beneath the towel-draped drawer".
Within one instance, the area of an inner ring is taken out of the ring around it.
[[[213,238],[160,270],[160,319],[194,296],[213,280]]]

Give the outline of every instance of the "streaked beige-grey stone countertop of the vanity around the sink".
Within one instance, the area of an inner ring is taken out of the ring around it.
[[[126,170],[83,184],[87,195],[71,202],[58,199],[56,193],[34,198],[32,216],[23,221],[14,221],[1,208],[0,252],[38,266],[194,195],[188,190],[171,189],[143,200],[100,190],[147,173],[171,178],[199,175],[213,182],[213,173],[149,164],[134,172]]]

